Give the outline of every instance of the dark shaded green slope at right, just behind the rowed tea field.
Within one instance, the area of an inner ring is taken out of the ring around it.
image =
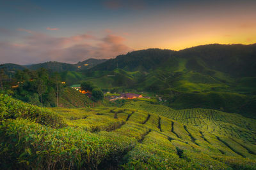
[[[175,109],[209,108],[256,118],[255,99],[231,92],[180,93],[168,98],[168,106]]]

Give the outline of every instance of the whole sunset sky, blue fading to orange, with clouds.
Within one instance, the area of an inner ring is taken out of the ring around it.
[[[255,0],[0,0],[0,64],[256,43]]]

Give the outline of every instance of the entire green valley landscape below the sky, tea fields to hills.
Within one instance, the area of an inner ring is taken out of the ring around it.
[[[0,167],[255,169],[254,56],[205,45],[88,69],[2,65]]]

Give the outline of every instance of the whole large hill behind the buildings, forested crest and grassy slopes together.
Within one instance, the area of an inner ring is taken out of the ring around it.
[[[175,109],[208,108],[256,118],[255,49],[256,44],[214,44],[180,51],[140,50],[84,74],[102,88],[159,95]]]

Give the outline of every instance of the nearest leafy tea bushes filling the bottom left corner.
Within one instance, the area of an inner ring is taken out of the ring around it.
[[[0,132],[4,136],[1,143],[6,144],[1,150],[1,166],[12,169],[95,169],[109,155],[122,152],[134,143],[115,134],[51,129],[26,120],[3,122]]]

